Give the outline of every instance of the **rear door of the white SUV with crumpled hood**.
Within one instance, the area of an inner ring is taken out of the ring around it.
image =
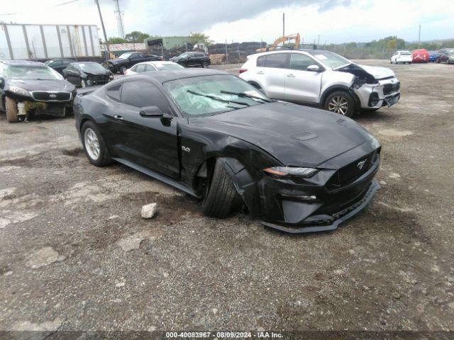
[[[270,98],[285,98],[285,72],[288,53],[272,53],[257,59],[255,78]]]

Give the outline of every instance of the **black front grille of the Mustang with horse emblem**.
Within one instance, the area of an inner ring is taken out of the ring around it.
[[[333,176],[331,176],[331,179],[329,179],[326,183],[326,188],[328,190],[336,190],[343,186],[348,186],[348,184],[350,183],[353,183],[354,181],[359,179],[362,174],[365,174],[365,172],[370,169],[372,164],[374,164],[377,160],[377,157],[377,150],[374,150],[370,154],[367,154],[365,157],[356,159],[355,162],[343,166],[341,169],[336,171],[336,174],[333,174]]]

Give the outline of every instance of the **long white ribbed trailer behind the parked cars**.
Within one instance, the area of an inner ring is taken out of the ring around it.
[[[0,24],[0,60],[101,57],[95,25]]]

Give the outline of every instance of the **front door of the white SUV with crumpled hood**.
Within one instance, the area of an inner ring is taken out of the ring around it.
[[[290,53],[289,67],[285,72],[285,100],[318,103],[323,72],[308,71],[310,65],[323,68],[309,55]]]

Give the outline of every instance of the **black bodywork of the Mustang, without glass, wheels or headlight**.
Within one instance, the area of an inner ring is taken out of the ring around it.
[[[218,159],[250,215],[288,232],[335,229],[362,210],[379,188],[374,176],[380,164],[380,143],[353,120],[283,102],[186,118],[162,83],[233,76],[206,69],[153,73],[153,77],[140,74],[117,79],[92,94],[77,96],[74,115],[79,135],[85,120],[94,122],[114,159],[183,186],[196,197],[203,196],[201,180]],[[156,86],[159,98],[155,99],[165,101],[165,115],[144,118],[139,108],[109,97],[109,88],[127,81]],[[310,178],[282,179],[265,174],[263,169],[272,166],[308,166],[319,171]]]

